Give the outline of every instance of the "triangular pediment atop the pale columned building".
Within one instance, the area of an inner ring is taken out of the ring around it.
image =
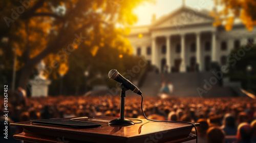
[[[204,23],[212,23],[213,21],[214,18],[209,16],[208,11],[197,11],[191,8],[181,7],[168,15],[160,17],[152,23],[151,29],[201,25]]]

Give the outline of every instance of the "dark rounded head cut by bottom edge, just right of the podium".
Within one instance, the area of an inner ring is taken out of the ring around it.
[[[207,143],[224,143],[225,133],[219,127],[210,127],[206,132]]]

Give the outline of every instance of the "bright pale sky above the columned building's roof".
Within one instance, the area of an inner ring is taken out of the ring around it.
[[[154,3],[144,3],[134,9],[138,16],[135,26],[150,25],[152,15],[156,14],[156,18],[169,14],[180,8],[182,3],[191,8],[202,8],[209,11],[214,7],[214,0],[155,0]]]

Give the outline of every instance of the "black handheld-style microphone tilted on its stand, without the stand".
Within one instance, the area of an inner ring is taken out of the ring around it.
[[[139,95],[142,94],[138,87],[136,87],[133,83],[131,83],[129,80],[125,79],[122,75],[120,75],[116,69],[110,70],[109,78],[121,83],[125,88],[132,90],[134,93],[137,93]]]

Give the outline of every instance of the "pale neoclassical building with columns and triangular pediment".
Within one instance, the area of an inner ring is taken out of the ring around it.
[[[209,11],[182,6],[159,19],[153,16],[151,25],[132,27],[129,40],[134,54],[168,73],[207,71],[213,62],[226,65],[232,49],[256,41],[255,28],[248,32],[240,22],[226,31],[213,22]]]

